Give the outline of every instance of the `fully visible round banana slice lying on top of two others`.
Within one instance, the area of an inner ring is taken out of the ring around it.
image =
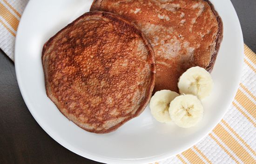
[[[180,127],[195,126],[203,116],[201,101],[195,95],[180,95],[170,103],[169,114]]]

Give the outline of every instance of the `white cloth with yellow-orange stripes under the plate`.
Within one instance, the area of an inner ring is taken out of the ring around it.
[[[28,0],[0,0],[0,48],[14,60],[14,39]],[[256,164],[256,54],[246,45],[243,77],[227,114],[190,149],[159,164]]]

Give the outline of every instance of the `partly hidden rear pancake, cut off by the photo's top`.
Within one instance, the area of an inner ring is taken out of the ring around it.
[[[90,10],[119,14],[145,34],[155,51],[154,92],[178,92],[178,79],[190,67],[213,69],[223,27],[208,0],[94,0]]]

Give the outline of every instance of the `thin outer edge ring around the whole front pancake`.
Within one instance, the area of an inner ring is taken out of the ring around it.
[[[150,76],[150,82],[149,82],[149,86],[147,88],[147,94],[145,94],[145,97],[143,99],[143,101],[141,101],[140,107],[136,110],[135,114],[128,116],[127,118],[125,118],[124,120],[122,120],[119,124],[116,124],[115,126],[112,126],[111,128],[108,129],[103,129],[103,130],[95,130],[95,129],[88,129],[85,128],[83,126],[83,123],[80,123],[79,121],[77,121],[76,117],[72,118],[70,116],[68,116],[68,114],[63,113],[60,108],[65,108],[62,107],[58,101],[54,101],[54,99],[56,99],[51,92],[51,88],[47,82],[47,69],[46,69],[46,65],[45,65],[45,57],[47,56],[45,54],[46,52],[46,48],[49,46],[49,44],[51,44],[51,42],[53,41],[53,39],[55,37],[57,37],[62,31],[64,31],[65,29],[69,28],[71,25],[74,25],[77,21],[79,21],[80,19],[83,19],[84,17],[88,17],[88,16],[93,16],[93,15],[98,15],[101,17],[107,17],[108,19],[115,19],[116,21],[120,21],[120,22],[125,22],[128,25],[131,25],[133,27],[133,31],[138,34],[144,45],[145,48],[148,50],[148,63],[150,63],[150,69],[151,69],[151,76]],[[45,88],[46,88],[46,94],[47,96],[50,98],[50,100],[52,102],[54,102],[54,104],[56,105],[56,107],[59,109],[59,111],[68,119],[71,120],[72,122],[74,122],[74,124],[76,124],[77,126],[81,127],[82,129],[88,131],[88,132],[94,132],[94,133],[108,133],[108,132],[113,132],[115,131],[117,128],[119,128],[120,126],[122,126],[124,123],[126,123],[128,120],[131,120],[135,117],[137,117],[138,115],[140,115],[144,109],[146,108],[146,106],[148,105],[148,102],[150,101],[150,98],[152,96],[152,92],[155,86],[155,53],[154,50],[151,46],[151,44],[148,42],[148,39],[144,36],[143,32],[141,32],[141,30],[139,30],[139,28],[132,22],[128,21],[127,19],[124,19],[123,17],[121,17],[120,15],[116,15],[114,13],[108,13],[108,12],[103,12],[103,11],[93,11],[93,12],[88,12],[88,13],[84,13],[83,15],[81,15],[80,17],[78,17],[77,19],[75,19],[72,23],[68,24],[67,26],[65,26],[64,28],[62,28],[59,32],[57,32],[53,37],[51,37],[43,46],[43,50],[42,50],[42,66],[43,66],[43,71],[44,71],[44,79],[45,79]]]

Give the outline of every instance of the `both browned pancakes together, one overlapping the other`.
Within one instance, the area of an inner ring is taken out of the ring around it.
[[[94,0],[43,47],[47,95],[81,128],[111,132],[188,68],[211,71],[222,31],[208,0]]]

